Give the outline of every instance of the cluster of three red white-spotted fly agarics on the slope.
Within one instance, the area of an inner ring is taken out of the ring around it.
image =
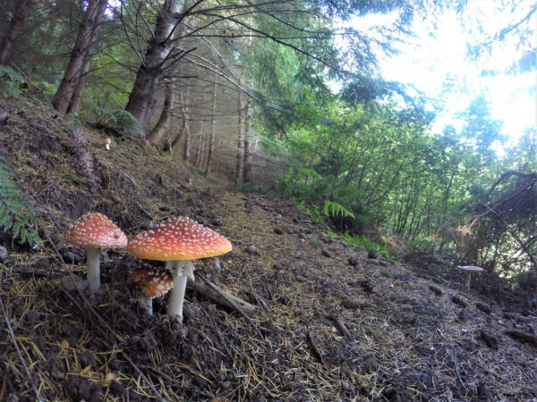
[[[85,214],[67,229],[65,242],[86,249],[91,292],[100,288],[101,248],[126,247],[136,257],[165,261],[166,268],[143,266],[132,272],[130,278],[138,284],[148,314],[153,312],[152,299],[171,289],[167,314],[176,316],[180,322],[186,281],[194,280],[192,260],[222,255],[232,248],[224,236],[185,216],[169,218],[128,241],[124,232],[105,215]]]

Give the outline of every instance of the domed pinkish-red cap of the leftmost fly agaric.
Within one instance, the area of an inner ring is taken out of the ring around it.
[[[103,214],[84,214],[65,231],[65,242],[84,248],[124,248],[123,230]]]

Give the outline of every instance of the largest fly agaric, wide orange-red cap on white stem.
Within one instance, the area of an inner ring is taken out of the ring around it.
[[[182,322],[186,281],[194,280],[192,260],[226,254],[231,248],[224,236],[180,216],[138,234],[129,242],[127,251],[140,258],[166,261],[166,268],[174,278],[167,314],[177,316]]]

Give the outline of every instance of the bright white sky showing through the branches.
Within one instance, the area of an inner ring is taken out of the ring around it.
[[[508,138],[506,147],[510,147],[516,144],[524,130],[537,127],[537,71],[508,72],[524,50],[537,46],[537,21],[533,16],[533,21],[527,25],[533,27],[533,36],[523,46],[517,46],[519,38],[509,37],[491,46],[490,54],[482,54],[477,60],[470,59],[468,45],[487,40],[509,20],[525,15],[533,4],[521,0],[516,10],[508,13],[490,7],[497,3],[469,1],[464,14],[443,13],[436,27],[432,27],[431,21],[414,21],[415,37],[396,46],[400,54],[381,57],[379,67],[385,80],[413,85],[435,99],[441,112],[433,123],[434,132],[440,132],[446,124],[460,129],[462,121],[456,114],[464,111],[473,98],[483,94],[490,102],[492,117],[503,122],[502,131]],[[369,30],[375,24],[386,23],[383,21],[386,18],[355,19],[348,25]],[[478,19],[482,29],[478,29]],[[483,74],[483,71],[494,71],[494,74]]]

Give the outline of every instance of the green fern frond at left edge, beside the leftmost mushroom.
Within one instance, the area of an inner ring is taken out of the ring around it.
[[[0,154],[0,230],[35,247],[42,242],[35,231],[35,214],[14,178],[9,161]]]

